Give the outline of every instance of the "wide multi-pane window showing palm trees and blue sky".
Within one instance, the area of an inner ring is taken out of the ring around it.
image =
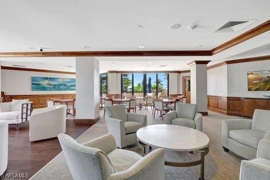
[[[121,74],[121,96],[122,98],[169,96],[169,74]]]

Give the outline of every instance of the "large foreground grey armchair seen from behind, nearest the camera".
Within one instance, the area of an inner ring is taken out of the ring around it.
[[[112,134],[79,144],[66,134],[58,135],[68,168],[75,180],[164,180],[164,150],[146,156],[117,149]]]

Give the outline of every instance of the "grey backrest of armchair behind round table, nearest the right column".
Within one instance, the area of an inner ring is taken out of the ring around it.
[[[178,118],[194,119],[197,112],[197,104],[176,103],[175,111]]]

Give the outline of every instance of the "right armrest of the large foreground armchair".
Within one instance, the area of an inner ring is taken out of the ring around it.
[[[140,179],[140,180],[164,180],[164,150],[159,148],[141,158],[129,169],[110,174],[107,180],[115,179]]]

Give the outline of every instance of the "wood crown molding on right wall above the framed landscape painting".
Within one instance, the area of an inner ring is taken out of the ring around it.
[[[227,64],[247,63],[247,62],[264,61],[264,60],[270,60],[270,55],[223,61],[214,65],[208,66],[207,69],[212,69],[212,68],[220,67]]]

